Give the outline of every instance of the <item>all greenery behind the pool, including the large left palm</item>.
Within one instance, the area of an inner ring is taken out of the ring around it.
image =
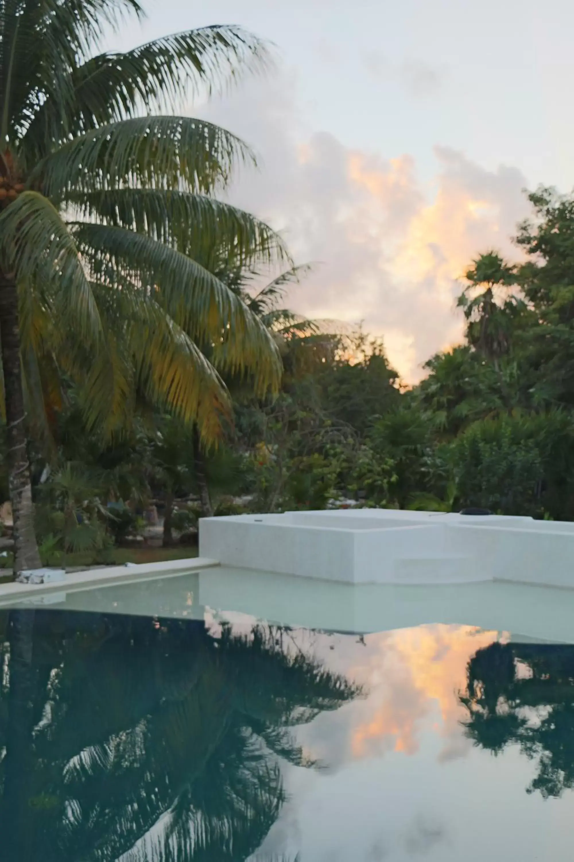
[[[308,267],[220,200],[249,147],[182,111],[264,67],[261,41],[213,27],[112,54],[104,29],[135,0],[2,9],[1,559],[18,577],[105,560],[151,506],[165,546],[244,510],[574,518],[574,196],[529,194],[515,259],[470,262],[464,340],[408,387],[379,339],[288,308]]]

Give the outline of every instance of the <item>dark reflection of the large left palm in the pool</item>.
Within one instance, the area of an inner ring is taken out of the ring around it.
[[[246,859],[285,799],[280,758],[311,765],[289,728],[358,693],[268,626],[10,618],[3,859]]]

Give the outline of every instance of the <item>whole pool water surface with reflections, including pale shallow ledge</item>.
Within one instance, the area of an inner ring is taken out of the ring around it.
[[[509,604],[522,631],[478,628],[472,591],[336,631],[210,577],[211,606],[182,576],[0,611],[0,859],[571,859],[571,643]]]

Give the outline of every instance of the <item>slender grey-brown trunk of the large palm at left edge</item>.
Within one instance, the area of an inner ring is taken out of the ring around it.
[[[0,340],[6,404],[10,502],[14,521],[14,572],[18,580],[25,580],[22,572],[26,569],[40,568],[41,562],[34,533],[34,505],[30,465],[26,451],[18,290],[14,277],[3,272],[0,272]]]

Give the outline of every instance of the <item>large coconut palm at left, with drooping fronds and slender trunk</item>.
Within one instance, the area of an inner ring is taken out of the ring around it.
[[[228,403],[220,372],[250,369],[260,390],[281,372],[266,328],[194,259],[213,242],[243,264],[284,255],[267,225],[213,197],[253,155],[173,113],[190,88],[261,67],[265,48],[210,27],[97,53],[130,13],[137,0],[0,2],[0,340],[21,579],[40,565],[24,393],[50,365],[82,377],[90,426],[117,430],[143,393],[205,440]]]

